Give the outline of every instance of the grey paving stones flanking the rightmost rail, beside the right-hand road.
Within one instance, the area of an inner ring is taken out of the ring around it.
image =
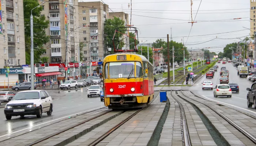
[[[211,107],[217,109],[219,112],[221,112],[227,118],[231,119],[234,123],[238,124],[244,130],[246,130],[247,132],[249,132],[253,136],[255,136],[255,123],[256,123],[255,119],[253,119],[245,114],[242,114],[236,110],[233,110],[232,108],[229,108],[226,106],[219,106],[215,102],[200,99],[199,97],[196,97],[189,91],[183,91],[183,93],[192,99],[195,99],[200,102],[204,102],[204,103],[210,105]],[[178,94],[181,97],[183,97],[184,99],[186,99],[189,102],[196,105],[200,109],[200,111],[202,111],[202,113],[207,117],[207,119],[210,121],[212,126],[215,127],[217,129],[217,131],[221,134],[222,139],[225,139],[225,141],[228,142],[230,146],[238,146],[238,145],[239,146],[255,146],[255,144],[253,142],[251,142],[241,132],[239,132],[236,128],[231,126],[228,122],[226,122],[226,120],[221,118],[221,116],[216,114],[214,111],[212,111],[206,105],[203,105],[201,103],[198,103],[194,100],[191,100],[191,99],[183,96],[180,91],[178,91]],[[254,129],[254,131],[252,131],[253,129]]]

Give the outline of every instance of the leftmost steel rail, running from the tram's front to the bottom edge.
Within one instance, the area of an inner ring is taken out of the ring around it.
[[[61,130],[61,131],[55,132],[55,133],[53,133],[53,134],[51,134],[51,135],[48,135],[48,136],[46,136],[46,137],[44,137],[44,138],[42,138],[42,139],[39,139],[39,140],[37,140],[37,141],[35,141],[35,142],[32,142],[32,143],[30,143],[30,144],[28,144],[28,145],[26,145],[26,146],[33,146],[33,145],[35,145],[35,144],[37,144],[37,143],[39,143],[39,142],[42,142],[42,141],[45,141],[46,139],[49,139],[49,138],[51,138],[51,137],[54,137],[55,135],[61,134],[61,133],[65,132],[65,131],[70,130],[70,129],[72,129],[72,128],[75,128],[75,127],[77,127],[77,126],[79,126],[79,125],[81,125],[81,124],[84,124],[84,123],[86,123],[86,122],[89,122],[90,120],[93,120],[93,119],[96,119],[96,118],[98,118],[98,117],[100,117],[100,116],[102,116],[102,115],[105,115],[105,114],[107,114],[107,113],[109,113],[109,112],[111,112],[111,111],[112,111],[112,110],[107,110],[107,111],[103,112],[103,113],[100,114],[100,115],[97,115],[97,116],[95,116],[95,117],[93,117],[93,118],[84,120],[83,122],[77,123],[77,124],[75,124],[75,125],[73,125],[73,126],[70,126],[70,127],[68,127],[68,128],[65,128],[65,129],[63,129],[63,130]]]

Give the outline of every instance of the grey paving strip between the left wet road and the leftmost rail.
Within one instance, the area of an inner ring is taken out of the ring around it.
[[[86,118],[93,118],[97,115],[102,114],[103,112],[106,112],[108,108],[103,108],[97,111],[89,112],[86,114],[78,115],[69,119],[65,119],[63,121],[51,124],[49,126],[42,127],[40,129],[28,132],[23,135],[19,135],[14,138],[7,139],[5,141],[0,142],[0,146],[24,146],[31,142],[37,141],[41,138],[44,138],[48,135],[51,135],[55,132],[58,132],[60,130],[63,130],[67,127],[70,127],[72,125],[75,125],[77,123],[83,122]]]

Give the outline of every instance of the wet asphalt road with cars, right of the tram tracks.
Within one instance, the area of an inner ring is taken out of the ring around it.
[[[219,101],[219,103],[225,103],[226,105],[230,104],[229,106],[232,108],[236,108],[238,110],[242,110],[246,113],[256,115],[256,110],[254,108],[248,108],[247,107],[247,93],[246,88],[251,88],[252,81],[249,81],[246,77],[239,77],[237,75],[237,68],[233,66],[232,63],[227,64],[216,64],[219,65],[218,71],[215,72],[214,78],[206,78],[206,76],[203,76],[199,81],[197,81],[192,87],[189,87],[189,91],[193,91],[195,94],[200,95],[201,97],[204,97],[206,99],[212,99],[215,101]],[[221,67],[226,66],[227,70],[229,70],[229,82],[237,83],[240,90],[239,93],[232,92],[232,97],[214,97],[213,96],[213,90],[205,89],[202,90],[202,82],[203,81],[212,81],[213,87],[215,87],[217,84],[219,84]],[[185,88],[184,88],[185,89]],[[186,88],[187,89],[187,88]]]

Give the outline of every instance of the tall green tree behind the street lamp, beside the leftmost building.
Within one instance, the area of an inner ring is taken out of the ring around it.
[[[24,26],[25,26],[25,48],[26,48],[26,64],[30,64],[30,15],[31,9],[39,5],[37,0],[23,1]],[[50,37],[45,35],[45,29],[49,26],[49,21],[45,20],[45,16],[41,17],[42,7],[33,9],[33,32],[34,32],[34,63],[41,60],[41,55],[45,52],[43,44],[49,42]]]

